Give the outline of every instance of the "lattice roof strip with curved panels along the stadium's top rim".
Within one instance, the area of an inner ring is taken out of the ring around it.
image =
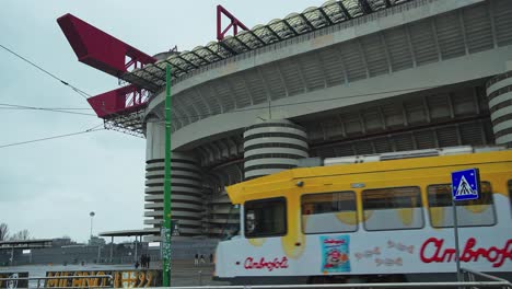
[[[411,0],[329,0],[322,7],[311,7],[302,13],[291,13],[266,25],[256,25],[220,42],[210,42],[190,51],[171,55],[164,60],[125,73],[121,79],[156,92],[165,85],[165,66],[171,65],[172,78],[177,79],[210,63],[286,41],[326,26],[373,13]]]

